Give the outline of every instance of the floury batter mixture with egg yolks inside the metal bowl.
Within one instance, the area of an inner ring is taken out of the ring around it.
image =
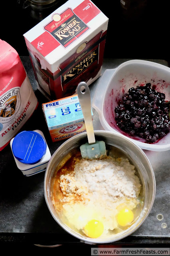
[[[53,205],[61,207],[68,226],[87,237],[117,234],[131,226],[143,208],[135,172],[128,158],[85,160],[77,152],[53,177]]]

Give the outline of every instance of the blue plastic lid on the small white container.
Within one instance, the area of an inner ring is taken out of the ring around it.
[[[44,138],[34,131],[23,131],[12,142],[12,152],[24,164],[40,162],[47,149]]]

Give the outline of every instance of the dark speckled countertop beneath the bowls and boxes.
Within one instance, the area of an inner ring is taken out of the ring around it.
[[[42,113],[42,103],[48,100],[37,90],[30,58],[21,56],[21,60],[39,101],[38,109],[22,130],[41,130],[52,155],[64,140],[51,142]],[[102,74],[106,69],[116,68],[125,61],[127,59],[105,59]],[[164,60],[151,61],[168,66]],[[99,80],[100,78],[90,85],[92,99]],[[93,114],[94,130],[103,130],[94,109]],[[156,178],[154,205],[142,226],[132,235],[115,244],[170,243],[170,150],[164,152],[144,150],[144,152],[152,164]],[[34,244],[81,242],[65,232],[51,216],[44,198],[44,174],[45,172],[30,177],[24,176],[16,166],[9,144],[0,152],[0,242],[29,241]]]

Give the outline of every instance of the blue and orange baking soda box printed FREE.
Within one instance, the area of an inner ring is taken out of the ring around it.
[[[42,109],[53,142],[86,132],[77,95],[43,103]]]

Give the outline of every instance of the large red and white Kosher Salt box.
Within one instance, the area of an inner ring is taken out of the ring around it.
[[[101,76],[108,18],[90,0],[69,0],[24,34],[38,89],[48,100],[77,94]]]

